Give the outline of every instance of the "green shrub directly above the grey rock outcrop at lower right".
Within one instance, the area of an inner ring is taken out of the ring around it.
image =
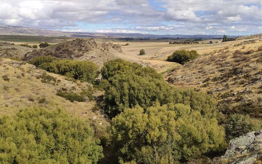
[[[248,115],[232,114],[226,124],[227,139],[231,140],[251,131],[259,130],[262,122]]]

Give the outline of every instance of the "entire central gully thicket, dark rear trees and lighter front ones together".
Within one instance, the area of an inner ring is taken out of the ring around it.
[[[224,130],[207,93],[177,89],[153,68],[121,59],[101,69],[102,108],[120,163],[185,162],[220,150]],[[153,155],[153,156],[152,156]]]

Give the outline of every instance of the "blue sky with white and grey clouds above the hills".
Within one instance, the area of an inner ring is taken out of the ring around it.
[[[262,33],[262,0],[0,0],[0,25],[71,32]]]

